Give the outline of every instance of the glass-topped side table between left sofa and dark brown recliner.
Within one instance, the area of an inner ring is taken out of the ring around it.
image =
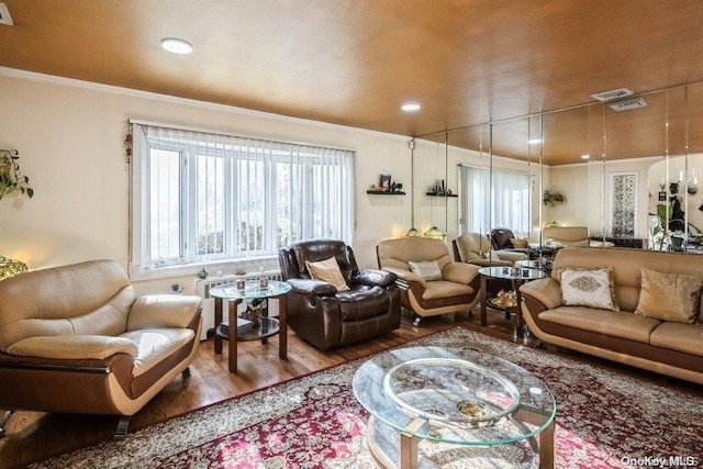
[[[288,324],[286,322],[286,294],[290,291],[290,286],[282,281],[269,280],[268,288],[260,288],[259,281],[245,282],[244,289],[237,289],[235,283],[225,283],[210,290],[210,295],[215,299],[215,354],[222,354],[222,340],[227,340],[227,351],[230,354],[230,372],[237,370],[237,342],[257,340],[266,343],[271,335],[278,334],[278,357],[288,356]],[[245,300],[254,299],[278,299],[278,320],[268,317],[268,308],[260,319],[257,327],[252,327],[242,334],[237,326],[242,321],[237,321],[237,305]],[[223,303],[227,301],[227,327],[222,321]]]

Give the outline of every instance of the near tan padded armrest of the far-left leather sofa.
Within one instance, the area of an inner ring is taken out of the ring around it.
[[[104,360],[115,354],[127,354],[134,358],[138,351],[136,344],[129,338],[105,335],[27,337],[8,347],[10,355],[67,360]]]

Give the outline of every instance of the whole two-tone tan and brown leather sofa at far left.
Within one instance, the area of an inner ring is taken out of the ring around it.
[[[130,416],[179,373],[200,344],[200,297],[136,298],[113,260],[0,281],[0,409]]]

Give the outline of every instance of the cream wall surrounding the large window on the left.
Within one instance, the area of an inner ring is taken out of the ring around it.
[[[368,196],[380,174],[410,183],[406,136],[247,111],[0,68],[0,148],[20,152],[34,198],[0,201],[0,255],[41,269],[96,258],[127,267],[129,171],[123,141],[127,119],[330,145],[357,152],[360,267],[376,267],[376,244],[410,223],[406,197]],[[226,273],[226,272],[225,272]],[[135,284],[163,292],[192,279]]]

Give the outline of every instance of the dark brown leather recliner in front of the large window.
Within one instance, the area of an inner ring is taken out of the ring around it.
[[[305,260],[334,257],[348,291],[313,280]],[[304,340],[328,350],[367,340],[400,327],[400,291],[395,275],[359,270],[352,247],[337,239],[302,241],[279,250],[288,292],[288,325]]]

